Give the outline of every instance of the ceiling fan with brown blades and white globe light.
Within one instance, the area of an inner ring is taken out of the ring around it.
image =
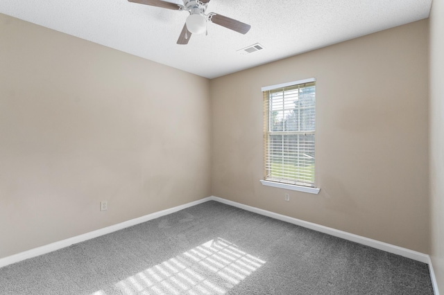
[[[214,24],[229,28],[241,34],[246,34],[250,30],[251,26],[244,24],[236,19],[230,19],[230,17],[224,17],[214,12],[205,14],[207,5],[210,0],[183,0],[184,5],[171,3],[162,0],[128,0],[133,3],[145,4],[149,6],[157,6],[160,8],[167,8],[171,10],[188,11],[189,16],[180,33],[178,44],[188,44],[189,38],[192,34],[201,34],[207,30],[207,21],[211,21]]]

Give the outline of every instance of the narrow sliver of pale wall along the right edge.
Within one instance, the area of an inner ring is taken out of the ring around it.
[[[430,13],[430,213],[431,257],[444,292],[444,2]]]

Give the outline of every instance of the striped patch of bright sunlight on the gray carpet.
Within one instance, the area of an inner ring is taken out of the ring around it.
[[[136,294],[225,294],[266,262],[216,238],[114,285]],[[100,290],[91,295],[108,295]]]

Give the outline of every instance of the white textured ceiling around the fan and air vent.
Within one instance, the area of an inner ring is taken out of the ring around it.
[[[182,4],[182,0],[170,0]],[[206,78],[248,69],[429,16],[432,0],[211,0],[207,12],[251,25],[208,24],[176,41],[188,13],[126,0],[1,0],[0,12]],[[259,43],[262,51],[237,52]]]

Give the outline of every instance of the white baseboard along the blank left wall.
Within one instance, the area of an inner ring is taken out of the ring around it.
[[[198,205],[198,204],[210,201],[211,199],[212,199],[212,197],[206,197],[204,199],[199,199],[199,200],[194,201],[194,202],[190,202],[190,203],[183,204],[183,205],[180,205],[180,206],[176,206],[176,207],[173,207],[173,208],[169,208],[169,209],[166,209],[166,210],[162,210],[162,211],[158,211],[158,212],[155,212],[155,213],[151,213],[151,214],[148,214],[148,215],[145,215],[145,216],[142,216],[142,217],[138,217],[138,218],[135,218],[133,220],[128,220],[126,222],[121,222],[119,224],[114,224],[112,226],[107,226],[107,227],[105,227],[103,229],[98,229],[96,231],[91,231],[89,233],[84,233],[83,235],[77,235],[76,237],[73,237],[73,238],[68,238],[66,240],[61,240],[61,241],[58,241],[58,242],[53,242],[51,244],[46,244],[46,245],[44,245],[42,247],[37,247],[37,248],[31,249],[31,250],[28,250],[28,251],[24,251],[22,253],[17,253],[17,254],[12,255],[12,256],[7,256],[5,258],[1,258],[0,259],[0,267],[5,267],[6,265],[12,265],[12,263],[16,263],[16,262],[19,262],[19,261],[22,261],[22,260],[25,260],[25,259],[28,259],[28,258],[33,258],[33,257],[37,257],[37,256],[40,256],[40,255],[43,255],[43,254],[46,254],[46,253],[50,253],[50,252],[56,251],[58,249],[69,247],[72,244],[83,242],[85,240],[91,240],[91,239],[97,238],[97,237],[99,237],[101,235],[106,235],[108,233],[112,233],[114,231],[119,231],[121,229],[126,229],[129,226],[134,226],[136,224],[147,222],[148,220],[153,220],[155,218],[162,217],[164,215],[169,215],[169,214],[174,213],[176,211],[180,211],[182,209],[185,209],[185,208],[188,208],[188,207],[191,207],[191,206],[195,206],[195,205]]]

